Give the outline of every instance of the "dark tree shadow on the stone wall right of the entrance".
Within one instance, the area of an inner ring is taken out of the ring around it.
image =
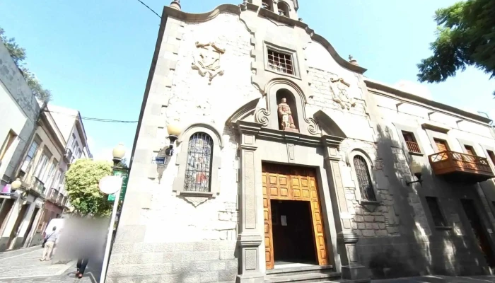
[[[470,227],[460,224],[459,214],[463,212],[455,192],[467,187],[456,188],[433,177],[427,166],[422,168],[424,182],[407,186],[405,182],[414,178],[409,169],[412,158],[424,157],[406,156],[402,144],[392,139],[392,131],[378,126],[378,156],[383,158],[383,174],[388,180],[388,187],[383,188],[383,192],[378,187],[378,195],[386,192],[392,197],[395,216],[389,212],[385,224],[389,225],[390,217],[395,217],[400,236],[360,238],[361,263],[371,270],[373,279],[485,274],[486,261],[474,238],[466,232]],[[429,220],[431,217],[427,217],[430,212],[424,196],[444,187],[451,190],[437,191],[436,196],[441,197],[441,209],[448,226],[453,227],[436,229]]]

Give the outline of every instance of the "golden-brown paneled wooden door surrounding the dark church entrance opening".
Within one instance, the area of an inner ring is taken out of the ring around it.
[[[310,207],[310,221],[312,228],[313,246],[315,248],[315,262],[318,265],[328,265],[327,244],[325,241],[325,229],[323,227],[320,197],[316,174],[313,168],[284,166],[272,163],[262,164],[263,183],[263,209],[264,209],[264,243],[267,269],[274,268],[274,239],[272,219],[272,200],[303,201]],[[283,221],[283,220],[282,220]],[[298,246],[286,247],[297,249]]]

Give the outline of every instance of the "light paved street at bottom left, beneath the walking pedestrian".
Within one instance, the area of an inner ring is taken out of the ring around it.
[[[96,283],[100,272],[90,265],[82,279],[77,279],[76,261],[40,262],[42,248],[32,247],[0,253],[0,283]]]

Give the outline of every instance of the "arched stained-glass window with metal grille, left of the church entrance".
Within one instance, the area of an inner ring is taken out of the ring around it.
[[[184,190],[210,192],[213,139],[204,132],[192,134],[187,146]]]

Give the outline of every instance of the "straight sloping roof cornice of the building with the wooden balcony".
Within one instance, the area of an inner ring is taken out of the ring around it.
[[[383,83],[379,83],[378,81],[371,81],[370,79],[364,79],[366,86],[368,87],[368,91],[371,91],[375,94],[381,96],[388,96],[391,98],[395,98],[397,100],[404,101],[405,103],[415,104],[421,107],[427,107],[431,110],[440,110],[438,112],[443,112],[443,114],[458,116],[460,118],[465,119],[470,118],[470,120],[474,120],[473,122],[482,122],[484,124],[488,124],[491,120],[487,117],[483,117],[472,112],[467,112],[464,110],[460,110],[450,105],[446,105],[443,103],[438,103],[433,100],[429,100],[426,98],[422,98],[421,96],[415,96],[412,93],[407,93],[405,91],[400,91],[397,88],[393,88],[392,86],[387,86]],[[443,110],[443,111],[442,111]]]

